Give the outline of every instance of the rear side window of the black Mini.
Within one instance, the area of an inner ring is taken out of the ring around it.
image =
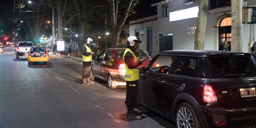
[[[176,56],[171,64],[169,74],[198,77],[198,59]]]

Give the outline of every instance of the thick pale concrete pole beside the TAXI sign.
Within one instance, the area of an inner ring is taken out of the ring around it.
[[[231,51],[243,52],[242,0],[232,0],[231,6]]]

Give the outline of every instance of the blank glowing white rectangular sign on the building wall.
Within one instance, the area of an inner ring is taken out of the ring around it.
[[[198,16],[198,10],[198,6],[196,6],[189,9],[170,12],[170,22],[182,19],[195,18]]]

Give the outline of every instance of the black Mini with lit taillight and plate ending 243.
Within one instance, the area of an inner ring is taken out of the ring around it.
[[[147,67],[139,68],[138,102],[178,128],[255,128],[256,63],[251,56],[160,52]],[[159,67],[153,66],[156,62]]]

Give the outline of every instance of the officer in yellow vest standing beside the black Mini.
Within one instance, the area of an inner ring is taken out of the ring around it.
[[[128,119],[139,120],[142,117],[139,116],[138,111],[134,111],[135,103],[137,100],[137,88],[139,77],[139,68],[146,58],[137,60],[134,55],[134,51],[138,48],[138,43],[143,43],[139,38],[131,36],[127,39],[127,48],[124,52],[124,63],[125,63],[125,81],[126,81],[126,107]]]

